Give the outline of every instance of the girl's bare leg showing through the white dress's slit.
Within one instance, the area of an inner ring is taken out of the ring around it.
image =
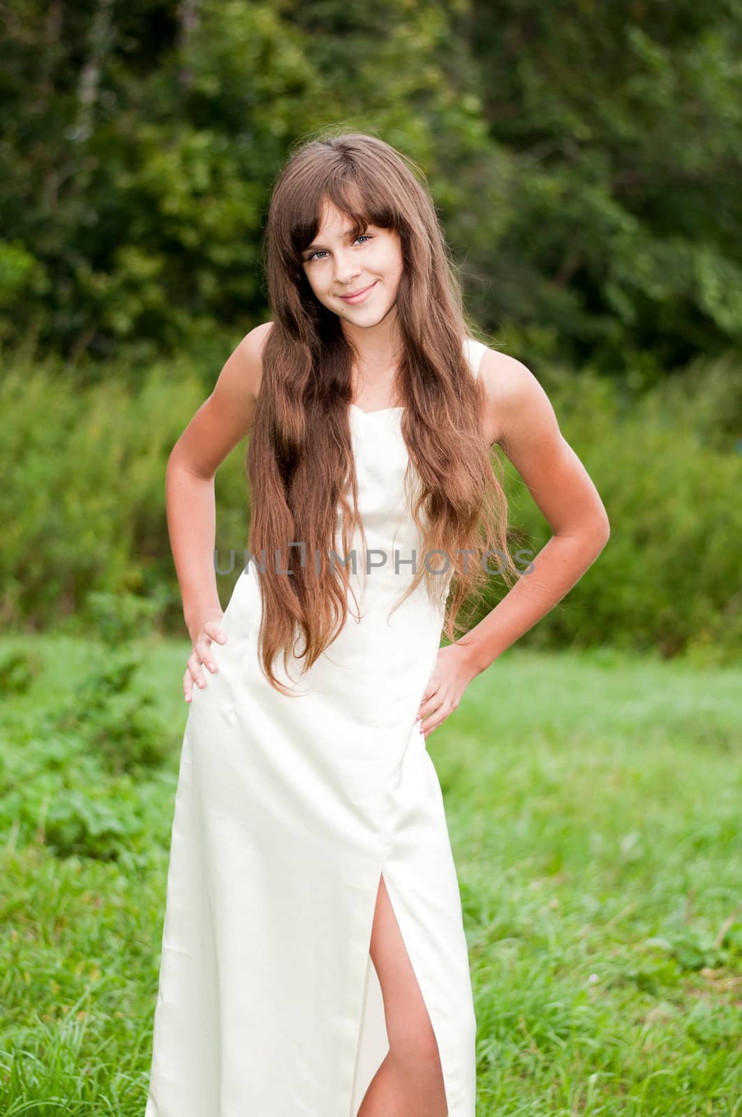
[[[370,953],[384,1002],[389,1053],[365,1091],[358,1117],[447,1117],[438,1043],[383,875]]]

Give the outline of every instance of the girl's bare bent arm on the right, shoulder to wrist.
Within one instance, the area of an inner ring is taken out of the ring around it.
[[[552,528],[552,537],[503,600],[457,641],[473,677],[541,620],[579,582],[610,535],[608,515],[554,410],[520,361],[487,350],[484,378],[491,441],[502,446]]]

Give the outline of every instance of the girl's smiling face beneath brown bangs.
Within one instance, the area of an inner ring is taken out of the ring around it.
[[[402,274],[399,235],[370,225],[355,239],[350,218],[331,203],[311,246],[302,254],[304,274],[320,303],[350,326],[382,322],[397,300]],[[356,298],[344,296],[358,295]]]

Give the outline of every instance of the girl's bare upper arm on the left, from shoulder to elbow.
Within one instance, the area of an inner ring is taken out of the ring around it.
[[[173,456],[191,472],[213,477],[249,433],[263,378],[263,347],[272,327],[273,322],[264,322],[242,337],[178,440]]]

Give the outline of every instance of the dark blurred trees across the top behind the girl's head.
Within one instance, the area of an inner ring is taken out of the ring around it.
[[[383,29],[383,30],[381,30]],[[19,0],[6,20],[0,345],[136,383],[268,316],[297,141],[428,175],[481,326],[542,372],[650,383],[742,340],[742,9],[594,0]],[[121,366],[123,369],[123,364]]]

